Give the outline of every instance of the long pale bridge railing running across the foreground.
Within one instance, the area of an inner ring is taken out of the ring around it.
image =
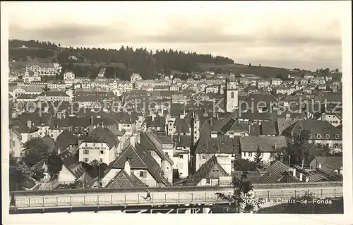
[[[254,199],[259,200],[287,200],[300,197],[305,193],[316,198],[342,197],[342,188],[316,190],[272,190],[254,191]],[[225,193],[232,195],[232,193]],[[126,205],[158,205],[158,204],[197,204],[197,203],[225,203],[215,193],[151,193],[150,198],[137,193],[104,194],[104,195],[62,195],[42,197],[16,197],[11,201],[11,207],[17,208],[46,208],[46,207],[82,207],[82,206],[126,206]]]

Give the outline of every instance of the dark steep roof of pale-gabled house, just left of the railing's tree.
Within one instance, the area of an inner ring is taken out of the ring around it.
[[[229,176],[225,169],[217,162],[217,157],[213,156],[205,162],[195,174],[191,175],[189,178],[186,179],[184,185],[185,186],[196,186],[203,178],[208,178],[210,171],[217,166],[220,169],[221,176]]]

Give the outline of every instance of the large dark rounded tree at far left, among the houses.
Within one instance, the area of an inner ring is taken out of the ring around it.
[[[23,162],[30,167],[34,166],[48,156],[48,150],[42,138],[32,138],[23,145]]]

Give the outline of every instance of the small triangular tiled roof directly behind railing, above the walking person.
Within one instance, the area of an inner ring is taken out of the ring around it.
[[[128,174],[124,169],[121,169],[112,180],[107,183],[105,188],[136,188],[145,187],[145,183],[135,176],[135,174]]]

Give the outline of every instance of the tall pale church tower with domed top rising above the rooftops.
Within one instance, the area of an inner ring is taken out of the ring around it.
[[[238,86],[235,75],[231,73],[225,80],[226,106],[227,112],[233,112],[238,109]]]

